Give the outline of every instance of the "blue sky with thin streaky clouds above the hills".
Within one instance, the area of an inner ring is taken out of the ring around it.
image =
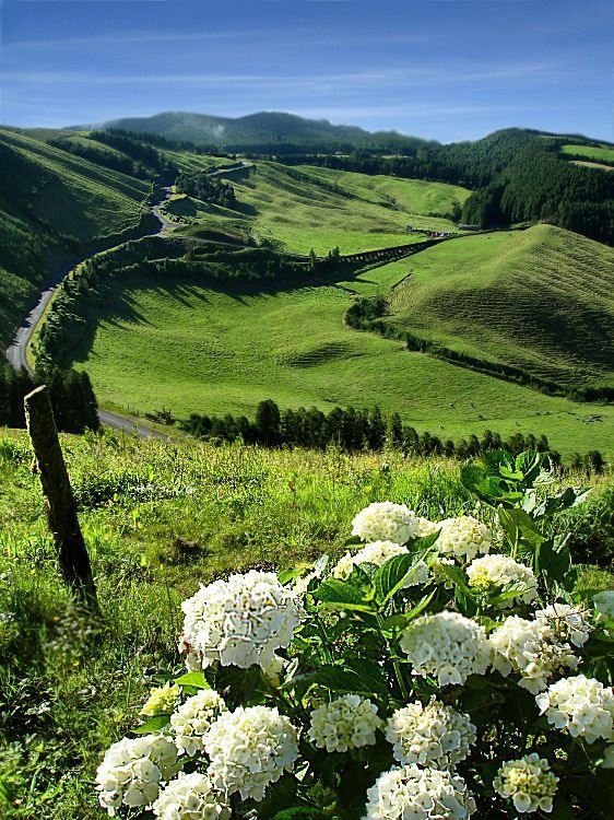
[[[611,0],[0,0],[0,121],[285,110],[614,141]]]

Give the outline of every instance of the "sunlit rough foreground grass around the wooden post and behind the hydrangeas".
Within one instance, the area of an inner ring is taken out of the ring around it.
[[[353,515],[405,502],[441,518],[486,516],[458,465],[395,453],[345,456],[241,446],[168,446],[107,434],[63,437],[103,620],[74,609],[46,530],[23,434],[0,433],[0,816],[102,817],[91,781],[104,749],[177,663],[179,602],[201,582],[250,566],[339,554]],[[383,466],[386,465],[386,467]],[[575,477],[586,482],[587,477]],[[580,560],[610,560],[611,479],[572,511]],[[591,571],[591,587],[612,585]],[[4,795],[4,796],[3,796]]]

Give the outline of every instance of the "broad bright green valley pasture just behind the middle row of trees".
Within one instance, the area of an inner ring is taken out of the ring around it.
[[[105,289],[86,317],[93,341],[71,363],[88,371],[104,406],[122,410],[164,406],[186,418],[253,415],[265,398],[282,408],[377,403],[444,440],[489,429],[545,433],[565,455],[611,450],[611,408],[546,397],[344,325],[354,292],[387,292],[406,272],[405,260],[336,283],[224,288],[133,276]]]

